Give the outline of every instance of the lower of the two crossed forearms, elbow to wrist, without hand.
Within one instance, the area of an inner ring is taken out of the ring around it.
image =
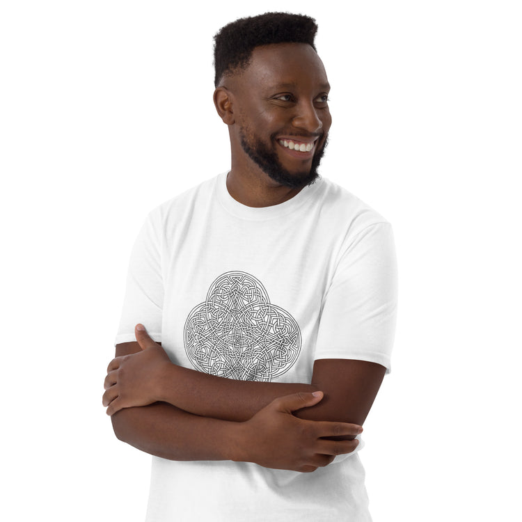
[[[155,403],[125,408],[112,417],[120,441],[170,460],[236,460],[239,424],[205,418]]]

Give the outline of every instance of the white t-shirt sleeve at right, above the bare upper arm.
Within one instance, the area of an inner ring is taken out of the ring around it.
[[[347,240],[324,296],[315,359],[379,363],[390,372],[397,316],[397,259],[390,223]]]

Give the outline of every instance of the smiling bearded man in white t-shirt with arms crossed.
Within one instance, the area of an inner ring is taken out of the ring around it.
[[[136,240],[103,403],[154,456],[148,521],[370,520],[356,437],[390,367],[395,253],[389,223],[318,177],[316,31],[284,13],[221,29],[231,169]]]

